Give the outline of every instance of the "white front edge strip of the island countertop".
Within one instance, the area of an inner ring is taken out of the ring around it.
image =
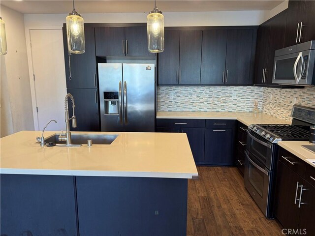
[[[197,179],[194,173],[167,172],[122,172],[122,171],[82,171],[82,170],[38,170],[1,168],[0,174],[49,175],[49,176],[97,176],[97,177],[152,177]]]

